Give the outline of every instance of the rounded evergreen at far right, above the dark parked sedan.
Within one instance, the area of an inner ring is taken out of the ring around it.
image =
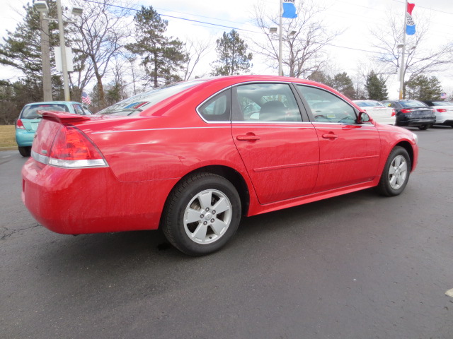
[[[435,76],[428,78],[428,76],[420,74],[406,83],[408,99],[440,100],[440,93],[442,93],[442,86]]]

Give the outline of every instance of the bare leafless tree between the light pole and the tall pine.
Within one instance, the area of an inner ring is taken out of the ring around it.
[[[77,56],[76,77],[71,76],[74,86],[82,90],[94,77],[100,105],[105,105],[103,77],[109,71],[110,61],[120,55],[126,37],[130,14],[127,8],[116,6],[114,0],[71,0],[84,8],[81,22],[75,23],[73,49]]]

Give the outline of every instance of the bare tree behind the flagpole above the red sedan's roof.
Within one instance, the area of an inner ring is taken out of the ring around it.
[[[297,18],[283,19],[282,66],[287,75],[306,78],[326,64],[324,47],[342,32],[328,32],[321,19],[323,11],[324,8],[314,1],[304,0],[299,1]],[[275,13],[275,8],[271,13]],[[254,23],[265,34],[265,41],[256,41],[253,52],[263,55],[268,65],[275,69],[278,67],[279,42],[268,32],[270,27],[278,27],[279,21],[278,16],[267,14],[263,2],[255,6]]]

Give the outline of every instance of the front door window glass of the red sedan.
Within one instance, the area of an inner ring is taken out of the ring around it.
[[[297,89],[308,102],[316,122],[355,123],[355,109],[340,97],[321,88],[297,85]]]

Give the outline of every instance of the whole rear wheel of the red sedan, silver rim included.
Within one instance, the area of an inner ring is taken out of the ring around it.
[[[234,185],[203,172],[183,179],[171,191],[161,226],[177,249],[202,256],[222,248],[236,233],[240,220],[241,198]]]

